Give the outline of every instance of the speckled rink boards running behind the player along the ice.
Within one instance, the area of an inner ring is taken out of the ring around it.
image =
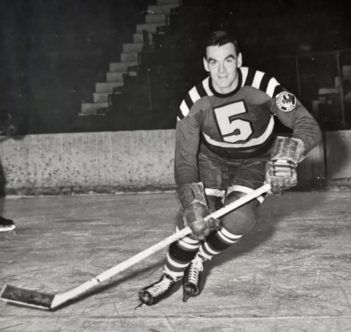
[[[0,142],[8,193],[141,192],[174,187],[174,129],[28,135]],[[351,178],[351,131],[325,133],[299,165],[300,190]]]

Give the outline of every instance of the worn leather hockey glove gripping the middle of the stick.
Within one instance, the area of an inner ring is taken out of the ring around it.
[[[177,199],[181,205],[183,226],[191,228],[194,239],[204,240],[212,230],[219,228],[218,219],[204,220],[212,211],[206,203],[203,183],[182,185],[177,189]]]

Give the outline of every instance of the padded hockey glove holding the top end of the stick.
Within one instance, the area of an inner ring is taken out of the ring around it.
[[[266,166],[266,182],[271,185],[269,194],[280,195],[298,183],[296,167],[302,160],[303,141],[278,136],[273,144],[271,160]]]

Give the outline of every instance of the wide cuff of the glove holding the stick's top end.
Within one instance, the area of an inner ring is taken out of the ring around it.
[[[289,160],[297,165],[303,159],[304,151],[302,140],[278,136],[273,144],[271,160]]]

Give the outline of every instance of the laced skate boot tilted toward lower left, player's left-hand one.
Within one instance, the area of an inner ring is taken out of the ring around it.
[[[139,304],[139,306],[152,306],[153,304],[159,302],[161,299],[164,299],[172,292],[178,280],[179,279],[177,279],[177,277],[163,272],[163,275],[158,282],[155,282],[154,284],[143,288],[139,292],[139,299],[141,300],[141,304]]]

